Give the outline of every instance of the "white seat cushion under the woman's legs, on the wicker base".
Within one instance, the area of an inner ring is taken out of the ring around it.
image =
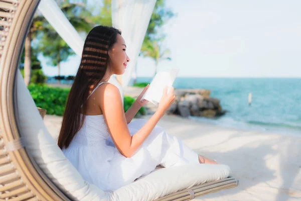
[[[159,168],[123,186],[110,195],[112,200],[154,200],[198,184],[229,176],[227,165],[193,164]]]

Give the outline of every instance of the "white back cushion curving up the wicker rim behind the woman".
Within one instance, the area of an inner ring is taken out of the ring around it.
[[[74,200],[108,200],[110,193],[84,181],[51,137],[19,70],[16,84],[18,127],[26,149],[40,168]]]

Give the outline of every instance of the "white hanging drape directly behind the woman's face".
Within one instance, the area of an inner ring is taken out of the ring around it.
[[[122,75],[122,87],[126,87],[135,67],[147,26],[156,0],[112,0],[112,25],[120,29],[130,58]]]

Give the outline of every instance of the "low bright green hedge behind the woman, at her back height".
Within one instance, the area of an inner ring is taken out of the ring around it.
[[[70,88],[51,87],[45,84],[29,84],[28,89],[36,106],[47,110],[47,115],[63,116]],[[135,99],[130,96],[124,97],[123,109],[126,112],[134,103]],[[142,107],[137,114],[145,115]]]

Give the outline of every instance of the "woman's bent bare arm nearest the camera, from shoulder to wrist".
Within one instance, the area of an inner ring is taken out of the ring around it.
[[[99,90],[100,89],[101,94],[97,96],[99,97],[98,103],[104,115],[111,138],[123,156],[131,157],[155,128],[165,111],[158,110],[139,131],[131,136],[127,127],[118,88],[107,83],[99,87]]]

